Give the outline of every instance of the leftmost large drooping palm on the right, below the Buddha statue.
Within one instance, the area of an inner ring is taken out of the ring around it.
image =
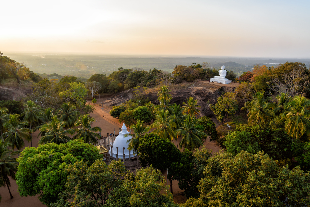
[[[264,97],[264,92],[257,92],[252,101],[245,103],[245,106],[241,110],[248,110],[248,124],[252,122],[266,122],[272,120],[275,117],[272,111],[275,108],[274,103],[270,103],[271,97]]]

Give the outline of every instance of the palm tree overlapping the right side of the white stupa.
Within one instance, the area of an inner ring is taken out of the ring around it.
[[[133,130],[133,134],[124,134],[124,137],[131,136],[132,138],[127,140],[128,150],[138,154],[139,139],[144,136],[151,128],[149,126],[143,126],[144,121],[137,120],[137,123],[131,125],[130,128]]]

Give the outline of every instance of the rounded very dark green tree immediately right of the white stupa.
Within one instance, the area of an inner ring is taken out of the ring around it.
[[[141,166],[152,165],[157,169],[166,169],[175,162],[180,151],[170,141],[159,137],[157,134],[146,134],[139,140],[138,151]],[[170,192],[172,193],[172,180],[170,180]]]

